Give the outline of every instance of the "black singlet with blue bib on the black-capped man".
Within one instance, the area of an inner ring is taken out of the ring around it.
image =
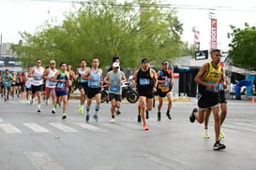
[[[150,76],[150,68],[143,72],[142,68],[137,75],[137,89],[139,92],[152,92],[153,90],[153,78]]]

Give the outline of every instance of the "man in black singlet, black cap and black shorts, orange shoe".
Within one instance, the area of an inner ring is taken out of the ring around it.
[[[154,92],[157,92],[158,77],[156,71],[150,68],[148,59],[142,60],[142,67],[135,71],[132,83],[133,86],[137,86],[139,102],[142,105],[143,129],[149,130],[145,119],[145,110],[150,111],[153,107],[153,97]]]

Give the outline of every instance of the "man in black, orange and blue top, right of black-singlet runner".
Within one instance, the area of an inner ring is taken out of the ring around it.
[[[158,71],[158,121],[161,120],[161,107],[163,104],[163,98],[167,97],[168,107],[166,116],[169,120],[172,120],[170,110],[172,108],[173,98],[173,70],[169,69],[169,63],[167,61],[162,62],[162,69]]]

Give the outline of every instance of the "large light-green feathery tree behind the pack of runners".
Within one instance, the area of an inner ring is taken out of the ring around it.
[[[43,64],[54,59],[79,66],[80,60],[90,64],[97,57],[104,68],[118,55],[124,67],[135,68],[143,57],[172,63],[187,52],[182,32],[175,10],[155,0],[123,5],[93,0],[74,5],[59,25],[46,21],[35,35],[24,32],[23,45],[14,45],[13,50],[26,64],[40,58]]]

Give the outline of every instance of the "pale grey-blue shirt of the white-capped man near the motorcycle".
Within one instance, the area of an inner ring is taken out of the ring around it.
[[[117,73],[113,73],[113,70],[110,71],[110,79],[111,86],[109,88],[109,91],[115,94],[121,94],[122,93],[122,87],[120,85],[120,82],[122,80],[122,71],[118,71]]]

